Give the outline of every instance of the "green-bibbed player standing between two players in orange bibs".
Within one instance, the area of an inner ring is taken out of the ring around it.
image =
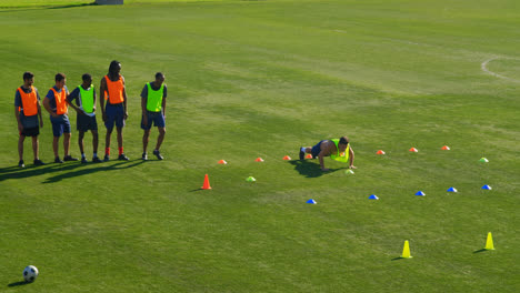
[[[78,85],[68,97],[67,101],[71,108],[76,110],[77,129],[79,131],[78,144],[81,152],[81,163],[87,163],[84,155],[83,138],[84,132],[89,130],[92,132],[92,162],[99,163],[101,160],[98,158],[98,122],[96,121],[96,90],[92,85],[92,77],[84,73],[82,77],[83,83]],[[72,101],[76,100],[76,105]]]

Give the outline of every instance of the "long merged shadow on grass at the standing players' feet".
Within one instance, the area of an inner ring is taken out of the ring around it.
[[[60,172],[57,175],[50,176],[43,181],[43,183],[54,183],[61,181],[63,179],[81,176],[84,174],[91,174],[96,172],[102,171],[116,171],[116,170],[123,170],[128,168],[133,168],[136,165],[142,164],[143,161],[136,160],[136,161],[114,161],[116,163],[88,163],[81,164],[79,162],[74,163],[48,163],[42,166],[27,166],[27,168],[19,168],[19,166],[10,166],[10,168],[2,168],[0,169],[0,182],[8,179],[24,179],[24,178],[32,178],[39,176],[49,173]],[[93,166],[93,168],[89,168]],[[64,173],[62,173],[64,172]]]

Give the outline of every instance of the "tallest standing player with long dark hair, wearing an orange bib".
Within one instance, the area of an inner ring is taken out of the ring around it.
[[[104,127],[107,128],[107,135],[104,138],[104,160],[110,160],[110,138],[112,135],[113,124],[118,131],[118,160],[128,161],[128,156],[123,152],[123,135],[122,129],[128,118],[127,111],[127,90],[124,85],[124,78],[120,74],[121,63],[113,60],[110,63],[109,72],[101,79],[99,87],[101,104],[101,113],[103,114]],[[107,107],[104,107],[107,101]]]

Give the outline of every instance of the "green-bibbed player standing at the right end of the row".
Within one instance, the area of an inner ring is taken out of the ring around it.
[[[159,149],[166,134],[166,99],[167,85],[164,84],[164,74],[161,72],[156,73],[156,80],[144,84],[141,91],[141,129],[144,130],[142,135],[142,160],[148,160],[148,141],[150,138],[150,130],[152,124],[159,129],[159,137],[157,138],[156,149],[153,154],[158,160],[164,159]]]

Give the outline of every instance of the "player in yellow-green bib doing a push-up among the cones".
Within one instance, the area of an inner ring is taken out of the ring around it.
[[[332,160],[349,163],[349,169],[356,169],[353,165],[354,153],[347,137],[340,139],[322,140],[314,146],[300,148],[300,160],[303,160],[306,153],[312,154],[312,158],[320,160],[322,171],[329,171],[324,168],[323,158],[330,156]]]

